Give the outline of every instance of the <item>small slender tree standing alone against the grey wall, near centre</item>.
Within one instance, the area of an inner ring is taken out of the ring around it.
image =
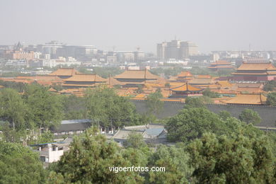
[[[163,109],[164,102],[161,101],[162,98],[163,96],[160,90],[157,90],[154,93],[150,93],[146,97],[146,105],[149,108],[149,113],[156,114]]]

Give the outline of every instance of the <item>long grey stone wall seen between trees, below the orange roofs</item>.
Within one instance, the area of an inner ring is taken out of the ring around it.
[[[144,100],[134,100],[133,103],[136,105],[138,113],[146,113],[146,103]],[[176,102],[164,102],[163,109],[156,115],[158,118],[171,117],[176,115],[179,110],[182,110],[185,103]],[[257,126],[262,127],[276,127],[276,107],[270,106],[256,106],[256,105],[216,105],[209,104],[207,108],[214,113],[219,113],[222,110],[227,110],[234,117],[238,115],[245,108],[255,110],[262,117],[262,122]]]

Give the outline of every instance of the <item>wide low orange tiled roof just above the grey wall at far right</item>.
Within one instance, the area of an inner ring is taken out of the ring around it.
[[[226,100],[227,104],[249,104],[249,105],[263,105],[266,97],[262,94],[240,94],[231,100]]]

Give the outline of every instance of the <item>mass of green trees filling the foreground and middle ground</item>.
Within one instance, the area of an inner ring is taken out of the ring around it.
[[[110,88],[88,90],[84,98],[56,96],[37,84],[0,90],[0,183],[276,183],[276,134],[253,127],[258,113],[239,118],[215,114],[205,98],[188,98],[177,115],[163,120],[170,146],[145,144],[132,133],[123,147],[98,134],[95,127],[74,137],[69,151],[43,168],[27,144],[53,139],[50,132],[30,139],[31,130],[57,126],[64,117],[93,118],[103,126],[144,125],[130,99]],[[147,100],[156,113],[159,91]],[[28,139],[26,138],[28,137]],[[165,172],[112,172],[112,166],[160,166]]]

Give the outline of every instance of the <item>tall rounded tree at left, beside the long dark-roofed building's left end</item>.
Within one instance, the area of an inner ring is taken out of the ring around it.
[[[59,125],[63,117],[59,96],[50,93],[44,86],[33,84],[26,88],[23,97],[30,108],[30,119],[36,127]]]

